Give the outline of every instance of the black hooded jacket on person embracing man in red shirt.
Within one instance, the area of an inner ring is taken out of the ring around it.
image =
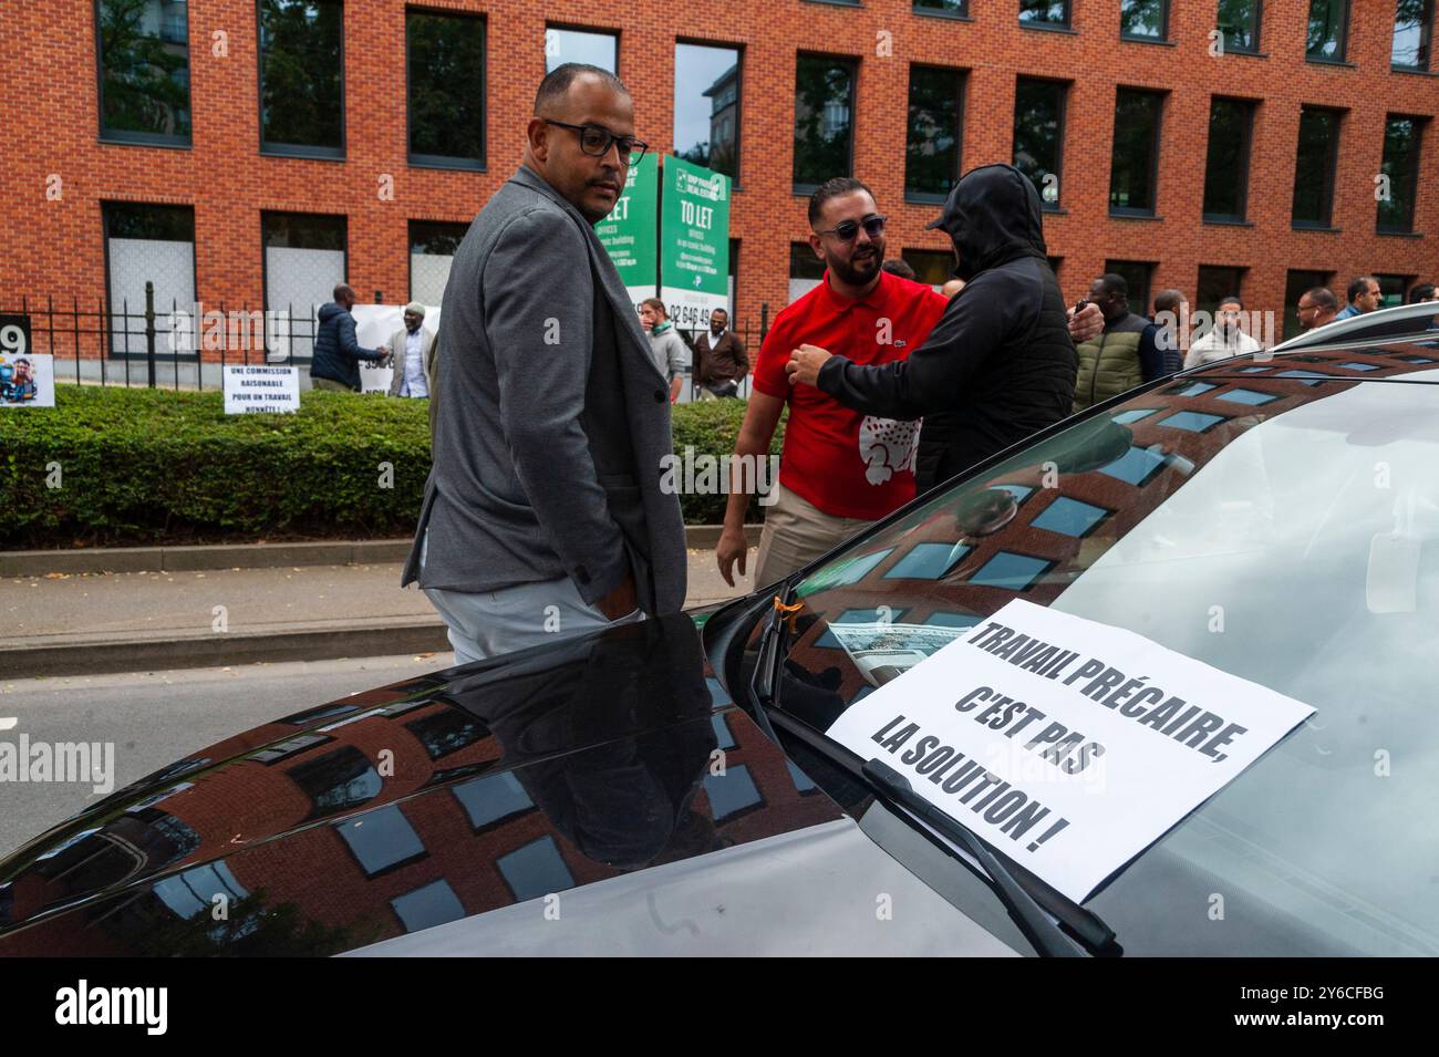
[[[866,414],[924,417],[920,492],[1065,418],[1078,362],[1029,177],[1013,165],[971,170],[930,226],[954,240],[966,286],[928,339],[878,367],[835,357],[817,380]]]

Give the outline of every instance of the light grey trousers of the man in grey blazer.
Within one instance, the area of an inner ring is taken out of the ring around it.
[[[422,569],[429,544],[429,529],[426,529],[425,542],[420,544]],[[568,577],[481,592],[427,587],[425,595],[449,626],[456,664],[469,664],[599,627],[645,618],[640,610],[635,610],[627,617],[612,621],[580,597],[578,588]]]

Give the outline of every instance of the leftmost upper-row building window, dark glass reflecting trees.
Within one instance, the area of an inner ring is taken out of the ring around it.
[[[99,135],[190,145],[190,32],[184,0],[95,0]]]

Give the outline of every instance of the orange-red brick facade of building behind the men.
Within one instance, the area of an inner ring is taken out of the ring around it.
[[[295,210],[348,217],[350,280],[367,301],[409,293],[409,220],[468,221],[519,160],[524,119],[544,73],[544,27],[613,29],[619,72],[629,83],[639,129],[669,151],[675,40],[744,47],[741,173],[732,232],[741,242],[737,315],[771,316],[786,302],[789,243],[802,239],[804,200],[791,191],[794,65],[797,52],[859,59],[855,173],[875,188],[891,217],[889,255],[944,249],[922,232],[934,206],[902,198],[905,105],[911,63],[968,70],[963,165],[1009,161],[1016,75],[1072,82],[1061,197],[1046,217],[1050,253],[1063,257],[1061,283],[1081,296],[1105,259],[1157,262],[1151,289],[1180,286],[1193,296],[1200,265],[1249,269],[1250,308],[1282,309],[1285,272],[1334,272],[1343,285],[1360,272],[1439,279],[1439,196],[1420,184],[1415,229],[1427,237],[1374,233],[1373,175],[1387,112],[1439,114],[1439,78],[1393,73],[1387,0],[1356,3],[1351,66],[1304,62],[1307,0],[1263,6],[1266,58],[1207,55],[1215,0],[1173,0],[1170,39],[1118,39],[1117,4],[1075,0],[1075,33],[1022,29],[1016,0],[971,0],[973,20],[925,17],[907,0],[862,7],[806,0],[427,0],[427,9],[479,12],[488,26],[488,171],[412,168],[406,161],[403,0],[345,3],[344,161],[259,154],[253,0],[190,0],[193,147],[171,150],[98,142],[95,27],[91,0],[4,4],[0,10],[0,104],[7,165],[0,173],[0,301],[104,295],[102,200],[193,204],[197,295],[203,302],[252,306],[263,301],[260,211]],[[229,55],[212,55],[212,35]],[[881,32],[892,55],[878,46]],[[1161,134],[1160,219],[1108,216],[1114,95],[1118,85],[1168,92]],[[1200,221],[1212,93],[1262,101],[1255,122],[1249,220],[1233,227]],[[1335,181],[1337,232],[1289,224],[1301,104],[1345,108]],[[1422,173],[1439,163],[1439,127],[1423,144]],[[50,174],[62,197],[46,198]],[[394,200],[380,200],[383,174]]]

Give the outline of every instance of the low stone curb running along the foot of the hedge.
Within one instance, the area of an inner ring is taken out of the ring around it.
[[[760,525],[745,525],[750,545]],[[686,525],[685,546],[708,551],[720,542],[720,525]],[[315,544],[214,544],[201,546],[112,546],[86,551],[0,551],[0,578],[50,572],[196,572],[203,569],[271,569],[298,565],[377,565],[401,562],[412,539],[337,539]],[[3,651],[0,651],[3,653]]]

